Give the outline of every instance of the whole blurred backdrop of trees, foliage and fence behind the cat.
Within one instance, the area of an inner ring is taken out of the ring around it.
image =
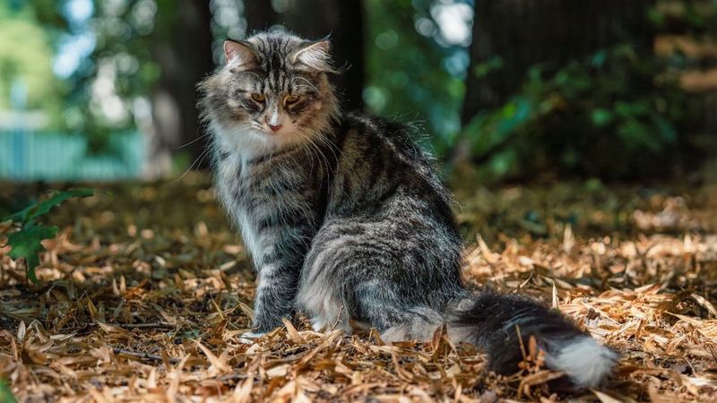
[[[0,0],[0,180],[206,168],[195,84],[265,29],[331,34],[344,107],[462,184],[715,176],[714,0]]]

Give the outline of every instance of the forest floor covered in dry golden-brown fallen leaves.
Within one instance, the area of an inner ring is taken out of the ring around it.
[[[715,187],[456,191],[467,282],[536,296],[621,353],[580,391],[531,346],[497,376],[440,333],[386,345],[301,322],[245,344],[254,275],[206,177],[108,187],[50,214],[38,286],[0,248],[0,378],[18,400],[717,401]]]

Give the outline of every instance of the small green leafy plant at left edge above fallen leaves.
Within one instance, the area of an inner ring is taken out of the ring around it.
[[[13,259],[24,259],[25,274],[33,283],[38,283],[35,276],[35,268],[39,266],[39,253],[44,247],[42,241],[54,238],[57,234],[57,227],[48,227],[38,222],[38,219],[47,215],[50,210],[56,208],[63,201],[76,197],[89,197],[97,193],[94,189],[75,189],[66,192],[54,191],[48,199],[30,204],[25,209],[6,217],[3,221],[11,220],[19,227],[18,231],[7,235],[7,244],[11,246],[10,257]]]

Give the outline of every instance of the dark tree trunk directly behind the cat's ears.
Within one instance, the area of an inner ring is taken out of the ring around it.
[[[344,73],[333,78],[346,109],[362,107],[364,10],[358,0],[293,0],[279,14],[287,29],[307,39],[331,35],[333,61]]]

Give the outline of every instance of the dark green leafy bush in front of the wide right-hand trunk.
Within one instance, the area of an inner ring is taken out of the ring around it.
[[[650,11],[656,25],[665,21]],[[715,13],[684,13],[699,31]],[[706,157],[704,98],[679,86],[692,63],[680,54],[660,57],[629,42],[563,66],[535,65],[522,90],[504,105],[473,116],[462,136],[471,139],[483,181],[551,176],[636,180],[694,168]],[[480,76],[500,70],[495,58],[473,66]]]

